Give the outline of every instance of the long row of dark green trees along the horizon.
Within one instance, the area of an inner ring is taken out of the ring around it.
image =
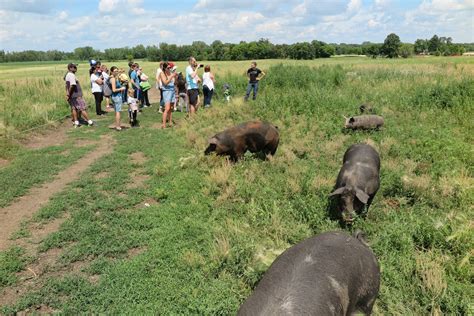
[[[219,40],[208,45],[195,41],[191,45],[160,43],[159,45],[137,45],[135,47],[108,48],[104,51],[91,46],[78,47],[72,52],[59,50],[5,52],[0,50],[0,62],[60,61],[60,60],[123,60],[148,59],[186,60],[194,56],[198,60],[249,60],[249,59],[315,59],[332,55],[367,55],[371,57],[409,57],[413,54],[461,55],[474,51],[474,43],[455,44],[450,37],[417,39],[414,44],[402,43],[398,35],[392,33],[384,43],[364,42],[362,44],[325,43],[318,40],[294,44],[273,44],[268,39],[252,42],[223,43]]]

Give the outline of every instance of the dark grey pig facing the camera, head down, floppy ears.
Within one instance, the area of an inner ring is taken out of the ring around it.
[[[335,190],[329,196],[336,198],[342,220],[351,223],[354,212],[361,214],[366,206],[368,210],[379,187],[379,154],[370,145],[355,144],[344,154]]]

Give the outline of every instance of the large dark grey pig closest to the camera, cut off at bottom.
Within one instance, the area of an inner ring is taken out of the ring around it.
[[[379,265],[362,234],[327,232],[278,256],[238,315],[368,315],[379,286]]]

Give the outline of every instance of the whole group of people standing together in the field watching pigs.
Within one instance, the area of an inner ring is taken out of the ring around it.
[[[160,91],[160,108],[162,113],[162,128],[172,126],[172,112],[178,110],[185,111],[193,115],[199,108],[200,97],[199,87],[202,85],[204,95],[204,107],[211,106],[212,96],[215,90],[215,77],[209,65],[198,64],[194,57],[189,57],[189,65],[185,73],[177,71],[177,66],[173,62],[160,62],[160,67],[156,72],[156,88]],[[71,107],[74,126],[80,125],[80,120],[86,120],[88,125],[93,125],[93,121],[87,113],[87,106],[83,98],[82,88],[75,75],[77,64],[70,63],[67,66],[68,73],[64,77],[66,82],[66,99]],[[202,76],[199,70],[203,69]],[[99,61],[90,61],[90,84],[94,95],[95,109],[98,116],[115,112],[115,129],[122,129],[120,112],[124,103],[128,104],[128,116],[130,125],[138,127],[137,120],[140,108],[150,107],[148,91],[151,88],[148,76],[138,63],[130,62],[128,73],[112,66],[109,69]],[[255,100],[258,92],[258,83],[265,76],[265,73],[257,68],[257,63],[252,62],[247,71],[249,83],[247,86],[245,100],[248,100],[253,91]],[[226,84],[227,89],[229,86]],[[226,94],[227,92],[227,94]],[[230,98],[228,90],[224,92],[227,100]],[[102,102],[106,100],[106,111],[102,110]],[[183,107],[184,104],[184,107]]]

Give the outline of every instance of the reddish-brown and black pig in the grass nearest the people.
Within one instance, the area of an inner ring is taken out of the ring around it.
[[[276,126],[260,121],[246,122],[211,137],[204,154],[216,152],[217,155],[230,156],[233,161],[240,159],[247,150],[273,156],[279,141]]]

